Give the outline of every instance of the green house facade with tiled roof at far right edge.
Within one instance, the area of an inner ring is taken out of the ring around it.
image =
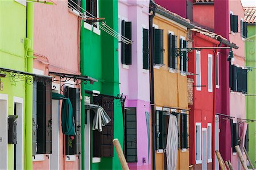
[[[245,7],[245,20],[247,22],[247,41],[245,42],[246,50],[246,68],[251,69],[247,73],[247,93],[255,94],[255,37],[256,37],[256,8],[255,7]],[[251,67],[251,68],[250,68]],[[256,120],[255,114],[255,98],[253,96],[246,97],[246,116],[247,119]],[[251,161],[256,160],[256,125],[254,121],[248,121],[248,137],[249,137],[249,146],[245,146]],[[255,164],[254,164],[255,166]]]

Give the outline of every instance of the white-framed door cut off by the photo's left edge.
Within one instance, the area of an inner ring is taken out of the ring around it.
[[[8,96],[0,94],[0,169],[8,169],[7,165],[7,115],[8,115]]]

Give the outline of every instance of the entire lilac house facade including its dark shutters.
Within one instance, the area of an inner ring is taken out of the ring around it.
[[[148,6],[118,1],[119,34],[133,40],[118,47],[120,93],[126,96],[123,151],[130,169],[151,168]]]

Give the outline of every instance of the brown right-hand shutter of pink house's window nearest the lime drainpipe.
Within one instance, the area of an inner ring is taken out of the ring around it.
[[[52,85],[46,88],[46,154],[52,154]]]

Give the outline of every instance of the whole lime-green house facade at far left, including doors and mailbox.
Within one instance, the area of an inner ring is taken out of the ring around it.
[[[26,77],[32,78],[26,67],[26,3],[1,1],[0,10],[0,169],[24,169]]]

